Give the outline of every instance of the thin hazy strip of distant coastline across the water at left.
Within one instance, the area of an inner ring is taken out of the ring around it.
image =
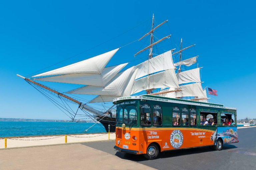
[[[50,119],[22,119],[22,118],[0,118],[0,122],[83,122],[93,123],[92,120],[50,120]]]

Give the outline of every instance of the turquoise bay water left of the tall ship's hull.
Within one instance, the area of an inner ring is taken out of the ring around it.
[[[0,122],[0,137],[106,132],[102,124],[75,122]]]

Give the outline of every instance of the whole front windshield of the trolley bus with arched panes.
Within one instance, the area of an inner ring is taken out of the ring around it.
[[[137,108],[134,105],[118,106],[116,115],[117,125],[137,125]]]

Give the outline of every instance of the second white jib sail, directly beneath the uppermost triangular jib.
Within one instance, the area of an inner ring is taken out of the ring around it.
[[[90,73],[65,74],[60,76],[35,78],[35,80],[103,87],[115,75],[117,75],[117,73],[119,73],[127,64],[128,63],[111,66],[111,67],[105,67],[100,74],[90,74]]]

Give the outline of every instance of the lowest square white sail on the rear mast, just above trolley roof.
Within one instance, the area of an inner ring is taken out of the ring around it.
[[[180,86],[180,89],[182,91],[176,92],[176,97],[204,96],[201,83],[193,83],[193,84]]]

